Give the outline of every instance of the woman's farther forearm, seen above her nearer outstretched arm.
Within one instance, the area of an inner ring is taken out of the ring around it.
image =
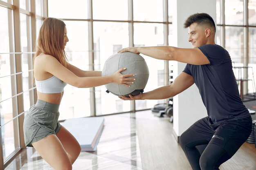
[[[68,64],[67,69],[72,71],[76,76],[78,77],[100,77],[101,71],[84,71],[80,68],[77,68],[76,66],[73,66],[72,64]]]

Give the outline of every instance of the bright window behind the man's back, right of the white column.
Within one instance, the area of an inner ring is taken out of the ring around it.
[[[256,0],[217,0],[216,2],[217,44],[221,44],[227,49],[234,66],[244,66],[243,73],[246,73],[245,69],[247,69],[248,74],[244,75],[243,78],[252,79],[252,81],[248,81],[247,86],[243,86],[244,94],[256,94],[256,88],[252,85],[252,82],[256,80],[255,76],[252,76],[252,71],[255,75],[256,67],[254,65]],[[221,4],[223,3],[225,8],[222,8]],[[248,8],[245,8],[247,6]],[[244,18],[245,13],[248,13],[248,18]],[[223,14],[225,14],[225,20],[222,21],[221,15]],[[248,38],[245,35],[248,35]],[[225,44],[222,44],[222,42],[225,42]],[[252,69],[247,68],[247,66]],[[235,75],[237,75],[237,70],[234,70]]]

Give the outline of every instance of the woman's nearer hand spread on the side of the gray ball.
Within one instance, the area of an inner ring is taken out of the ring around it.
[[[112,82],[130,87],[130,85],[128,85],[128,84],[134,83],[135,78],[131,78],[131,77],[135,76],[135,75],[134,74],[121,74],[121,72],[125,71],[125,70],[126,70],[126,68],[121,68],[117,72],[115,72],[112,75]],[[130,77],[130,78],[127,78],[127,77]]]

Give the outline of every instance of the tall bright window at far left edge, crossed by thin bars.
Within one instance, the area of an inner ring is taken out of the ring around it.
[[[2,53],[9,53],[10,52],[10,41],[12,39],[12,36],[9,35],[12,33],[9,33],[9,22],[12,21],[12,12],[10,16],[10,9],[6,9],[4,7],[0,7],[0,51]],[[9,14],[9,15],[8,15]],[[9,19],[9,20],[8,20]],[[11,81],[11,78],[13,80],[14,76],[6,76],[11,74],[11,66],[13,63],[10,60],[10,58],[13,57],[13,55],[9,54],[0,54],[0,119],[1,119],[1,125],[7,123],[13,118],[13,106],[15,107],[15,104],[12,103],[12,91],[11,87],[13,86],[13,81]],[[6,76],[6,77],[4,77]],[[3,101],[3,102],[2,102]],[[2,135],[2,149],[3,149],[3,157],[4,160],[11,155],[11,153],[14,152],[15,145],[14,145],[14,130],[17,128],[14,128],[17,126],[13,125],[13,121],[10,121],[6,125],[2,126],[1,128],[1,134]]]

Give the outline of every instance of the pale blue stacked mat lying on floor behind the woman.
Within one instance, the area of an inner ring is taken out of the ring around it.
[[[104,117],[67,119],[62,124],[79,142],[82,151],[95,151],[104,127]]]

